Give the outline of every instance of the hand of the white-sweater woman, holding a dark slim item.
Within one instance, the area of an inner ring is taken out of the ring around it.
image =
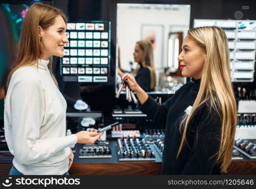
[[[92,129],[91,132],[82,130],[76,133],[79,144],[93,144],[103,133],[98,133],[96,129]]]

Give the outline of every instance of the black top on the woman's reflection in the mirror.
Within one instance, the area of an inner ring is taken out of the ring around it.
[[[146,91],[152,91],[151,89],[151,76],[150,71],[148,67],[141,66],[139,68],[139,71],[137,72],[137,75],[135,76],[135,79],[137,81],[137,84],[141,86],[141,88]]]

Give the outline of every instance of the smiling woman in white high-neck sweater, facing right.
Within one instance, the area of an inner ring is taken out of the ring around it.
[[[4,129],[13,159],[10,175],[69,175],[74,144],[93,144],[96,130],[66,136],[67,103],[52,74],[50,57],[63,57],[66,16],[33,4],[21,30],[15,66],[9,74]]]

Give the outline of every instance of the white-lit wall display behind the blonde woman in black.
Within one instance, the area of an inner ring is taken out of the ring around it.
[[[233,82],[253,82],[255,72],[255,20],[194,20],[194,28],[219,26],[228,37]]]

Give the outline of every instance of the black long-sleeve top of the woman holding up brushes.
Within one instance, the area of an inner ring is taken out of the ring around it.
[[[153,118],[156,125],[165,124],[165,147],[161,173],[163,175],[219,175],[220,165],[216,163],[221,134],[221,119],[217,112],[209,110],[206,104],[200,106],[189,122],[186,140],[178,158],[182,139],[180,122],[184,110],[193,106],[201,80],[190,81],[176,91],[175,95],[159,105],[149,97],[140,109]],[[212,157],[214,156],[214,157]],[[212,157],[212,158],[211,158]]]

